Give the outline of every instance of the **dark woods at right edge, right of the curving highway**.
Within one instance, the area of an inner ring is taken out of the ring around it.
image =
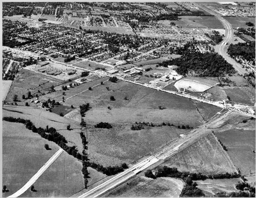
[[[255,61],[255,41],[230,44],[228,54],[233,58],[242,56],[247,61]]]

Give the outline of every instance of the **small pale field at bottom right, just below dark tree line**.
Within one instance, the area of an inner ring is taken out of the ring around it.
[[[217,180],[197,180],[197,188],[201,189],[206,197],[213,197],[219,192],[231,193],[238,191],[236,189],[236,184],[242,182],[239,178],[232,179],[217,179]]]

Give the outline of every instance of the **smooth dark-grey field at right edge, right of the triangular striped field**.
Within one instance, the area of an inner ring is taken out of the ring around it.
[[[255,125],[255,121],[254,121]],[[227,131],[216,132],[217,138],[228,149],[228,155],[242,174],[255,173],[255,129],[243,130],[231,128]]]

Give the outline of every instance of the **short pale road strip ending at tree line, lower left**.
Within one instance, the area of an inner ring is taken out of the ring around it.
[[[25,193],[26,190],[28,190],[28,188],[30,186],[32,186],[36,180],[46,171],[46,169],[60,156],[60,154],[63,152],[63,149],[59,149],[56,151],[56,153],[53,154],[53,156],[39,169],[39,171],[36,172],[36,174],[31,177],[31,179],[23,186],[20,188],[20,190],[18,190],[16,193],[10,195],[9,197],[18,197],[21,194]]]

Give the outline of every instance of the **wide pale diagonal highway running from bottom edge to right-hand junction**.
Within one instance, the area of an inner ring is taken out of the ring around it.
[[[191,132],[189,132],[186,136],[183,138],[179,138],[176,141],[172,141],[169,143],[169,145],[165,146],[164,148],[159,149],[156,151],[156,153],[147,159],[139,162],[138,164],[132,166],[131,168],[125,170],[124,172],[121,172],[114,176],[113,178],[105,181],[104,183],[100,184],[99,186],[89,190],[88,192],[80,195],[79,197],[98,197],[100,195],[103,195],[107,191],[113,189],[117,185],[125,182],[126,180],[130,179],[131,177],[135,176],[137,173],[145,170],[150,165],[154,165],[156,162],[158,162],[161,159],[166,159],[177,152],[179,152],[179,148],[182,144],[185,142],[188,142],[190,140],[196,140],[198,137],[200,137],[200,131],[203,131],[207,125],[214,124],[217,121],[222,120],[223,118],[227,117],[229,114],[231,114],[233,110],[228,111],[225,114],[222,114],[212,121],[203,124],[200,128],[193,129]]]

